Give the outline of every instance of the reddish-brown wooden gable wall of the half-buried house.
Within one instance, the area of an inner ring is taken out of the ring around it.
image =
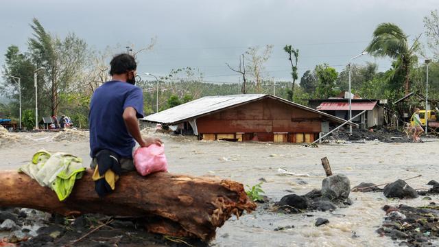
[[[257,133],[259,141],[273,141],[274,133],[318,133],[321,116],[266,98],[222,110],[196,120],[199,133]]]

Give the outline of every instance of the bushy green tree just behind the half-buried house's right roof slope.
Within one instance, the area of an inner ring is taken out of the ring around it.
[[[335,80],[337,80],[337,71],[328,64],[319,64],[316,66],[316,76],[318,86],[316,89],[317,97],[326,99],[337,94]]]

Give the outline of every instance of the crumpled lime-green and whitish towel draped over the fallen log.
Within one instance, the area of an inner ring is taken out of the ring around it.
[[[62,201],[69,197],[75,180],[82,178],[85,170],[82,159],[77,156],[40,150],[32,156],[32,162],[20,167],[19,172],[24,172],[41,186],[50,187]]]

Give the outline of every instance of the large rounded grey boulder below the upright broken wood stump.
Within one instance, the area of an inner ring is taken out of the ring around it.
[[[344,200],[351,192],[351,181],[343,174],[335,174],[322,181],[322,196],[329,200]]]

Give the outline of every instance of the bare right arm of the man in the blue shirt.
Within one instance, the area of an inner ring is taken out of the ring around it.
[[[132,106],[128,106],[127,108],[125,108],[122,114],[123,121],[125,121],[126,128],[128,129],[128,132],[130,132],[132,138],[134,138],[134,140],[136,140],[142,148],[147,147],[153,143],[161,145],[162,141],[158,138],[142,138],[136,115],[137,111]]]

